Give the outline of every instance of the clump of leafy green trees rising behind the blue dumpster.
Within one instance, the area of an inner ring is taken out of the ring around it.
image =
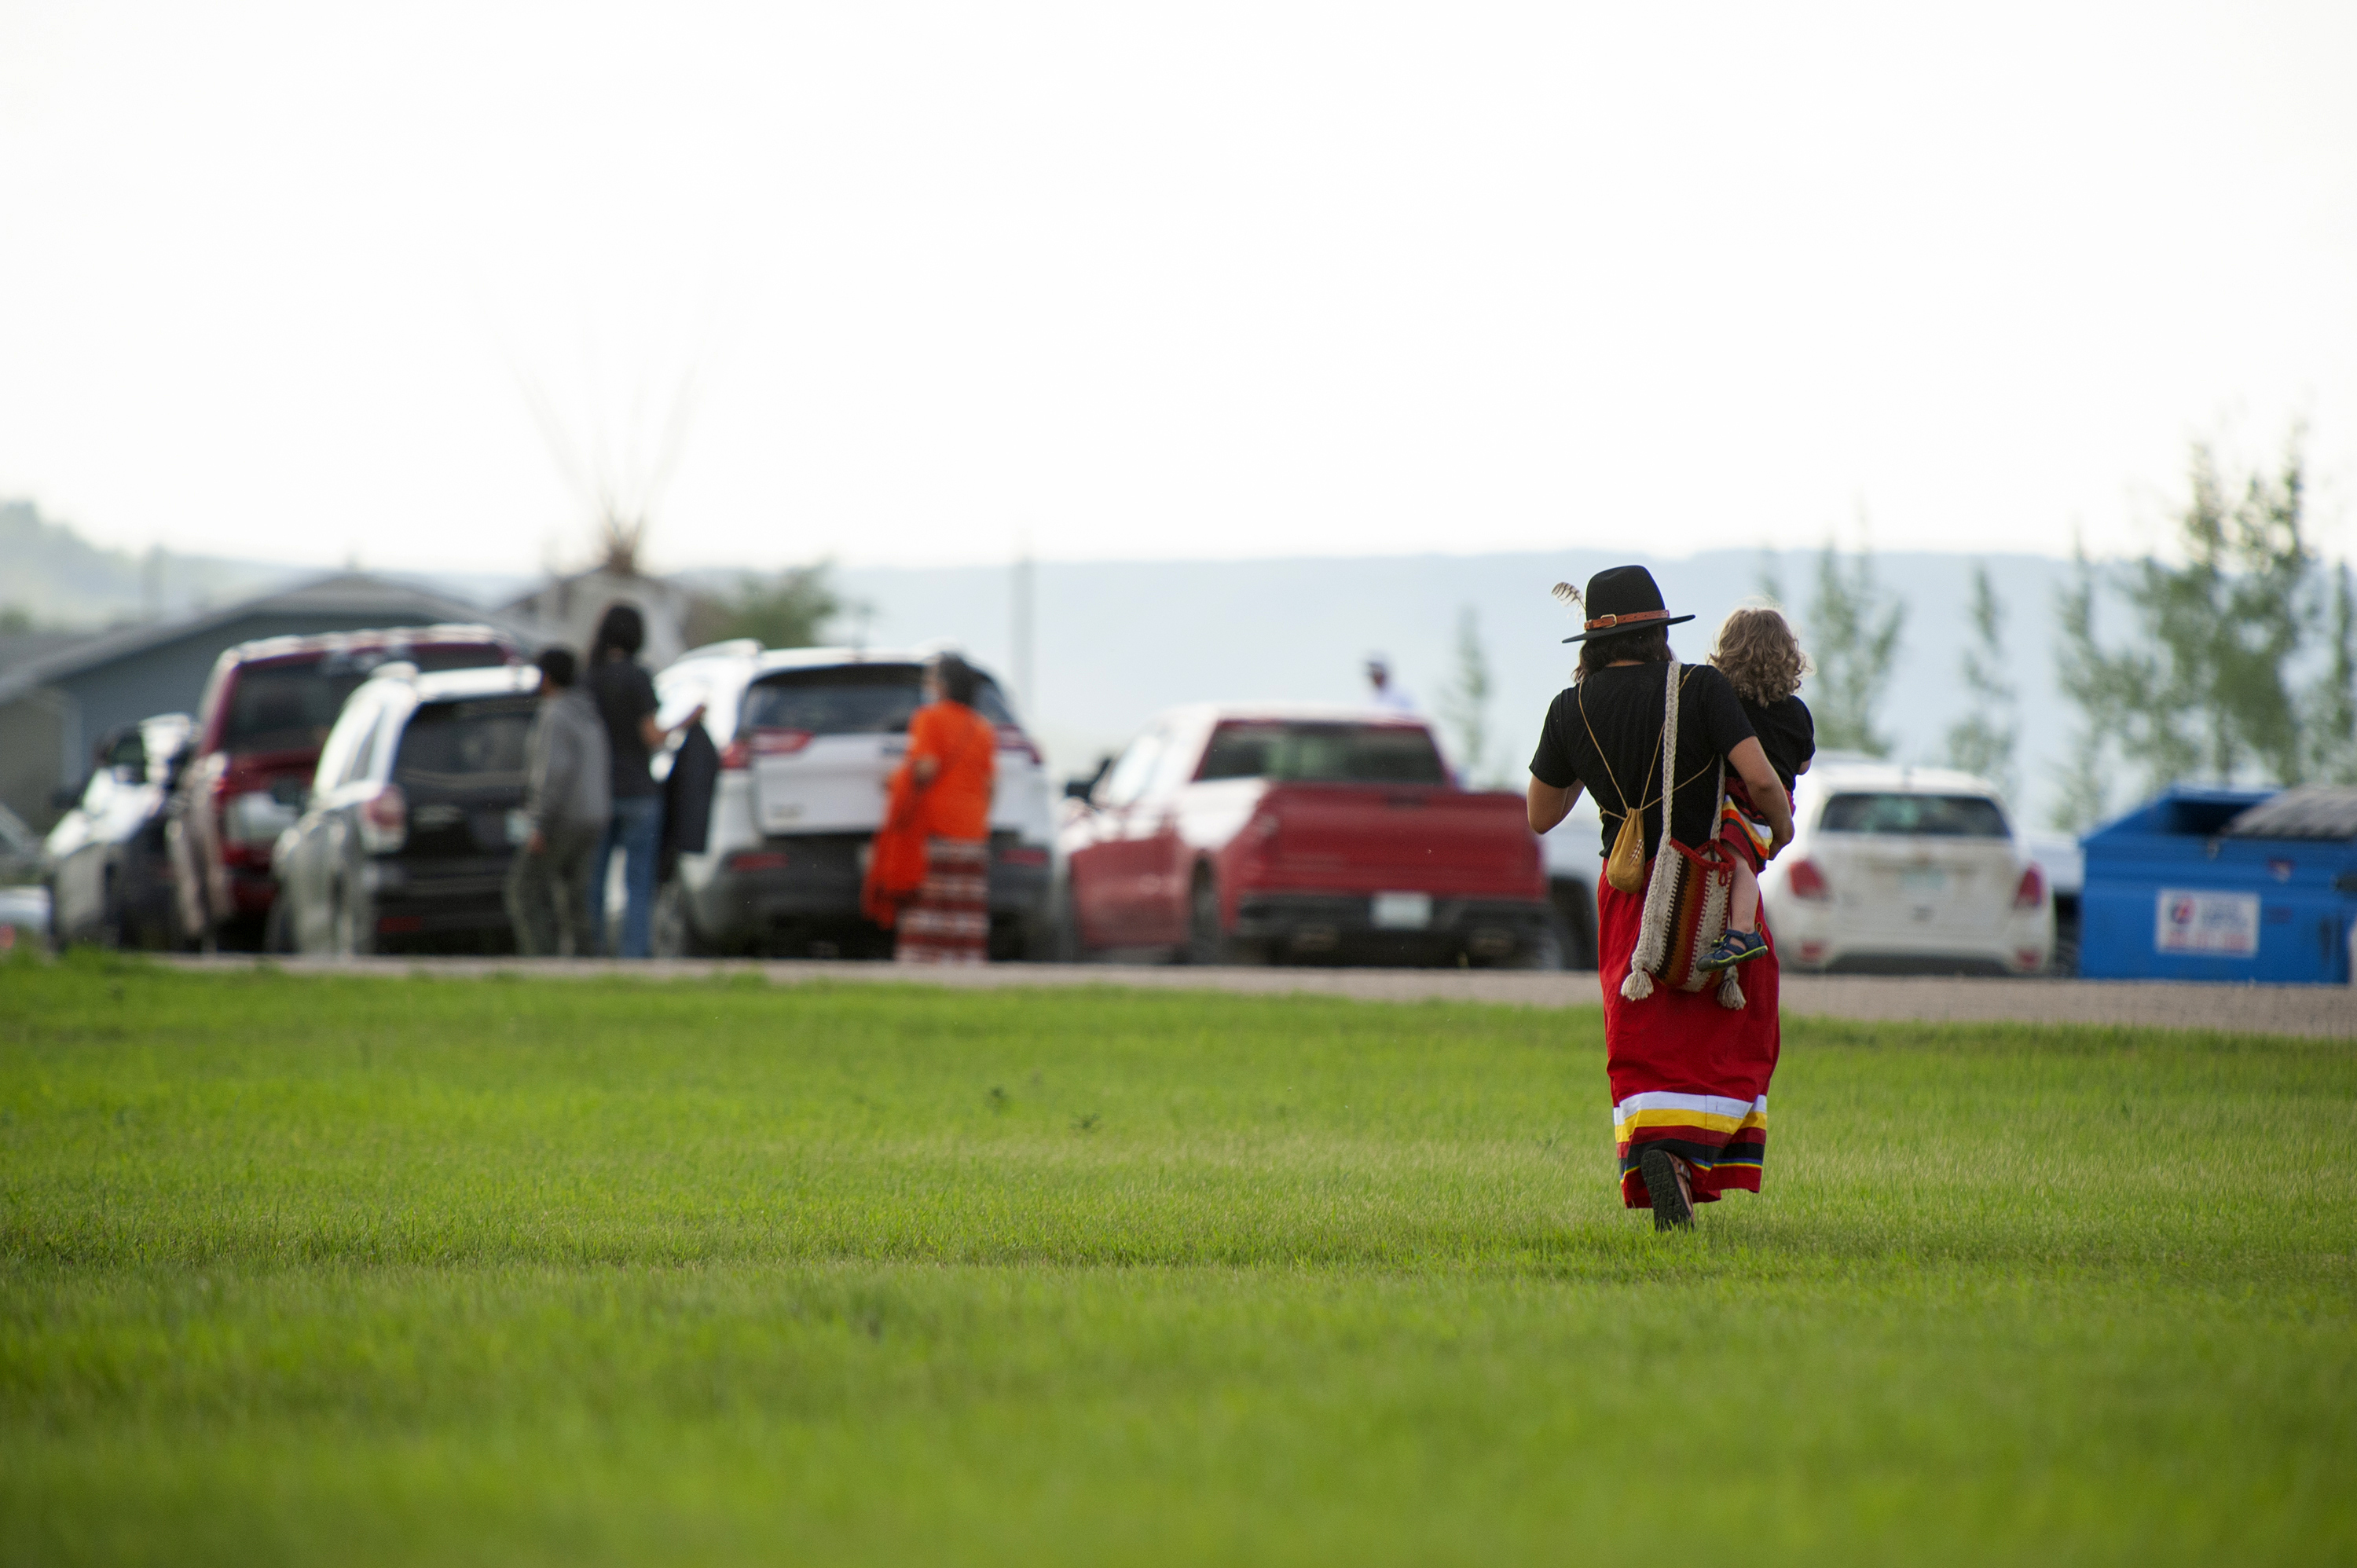
[[[2100,811],[2107,792],[2095,783],[2114,759],[2140,771],[2147,792],[2183,778],[2291,785],[2312,766],[2333,766],[2317,726],[2348,700],[2348,672],[2336,665],[2305,693],[2293,674],[2324,625],[2317,556],[2303,535],[2298,439],[2272,476],[2251,474],[2239,486],[2223,483],[2216,457],[2197,443],[2187,488],[2183,561],[2145,556],[2100,573],[2081,556],[2058,606],[2058,674],[2081,712],[2072,769],[2086,778],[2065,788],[2074,816],[2091,804]],[[2133,641],[2121,648],[2098,634],[2105,585],[2133,618]]]

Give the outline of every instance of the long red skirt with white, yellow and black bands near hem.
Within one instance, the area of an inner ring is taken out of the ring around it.
[[[1605,1075],[1612,1080],[1622,1203],[1652,1207],[1638,1174],[1648,1146],[1685,1158],[1695,1203],[1716,1203],[1728,1188],[1756,1193],[1768,1158],[1768,1080],[1782,1047],[1775,936],[1763,915],[1768,953],[1739,969],[1744,1007],[1721,1007],[1716,986],[1655,986],[1650,997],[1631,1002],[1619,986],[1629,979],[1643,915],[1643,894],[1596,879],[1596,979],[1605,990]]]

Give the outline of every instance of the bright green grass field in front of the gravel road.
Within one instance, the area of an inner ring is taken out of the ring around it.
[[[2357,1559],[2348,1045],[0,967],[0,1561]]]

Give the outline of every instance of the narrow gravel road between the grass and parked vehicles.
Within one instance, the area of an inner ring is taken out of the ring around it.
[[[165,957],[179,969],[245,969],[255,957]],[[759,974],[773,986],[806,981],[922,986],[1134,986],[1164,990],[1235,990],[1244,995],[1334,995],[1360,1002],[1501,1002],[1511,1007],[1593,1007],[1593,974],[1506,969],[1193,969],[1150,964],[992,964],[988,969],[900,969],[841,962],[582,962],[497,957],[358,957],[266,960],[290,974],[544,974],[554,979],[709,979]],[[1935,976],[1784,976],[1784,1012],[1827,1019],[1926,1023],[2128,1023],[2135,1028],[2227,1028],[2265,1035],[2357,1040],[2357,990],[2348,986],[2173,986],[2147,981],[1982,981]]]

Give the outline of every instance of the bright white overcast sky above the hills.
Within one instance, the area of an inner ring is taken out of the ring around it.
[[[2350,5],[0,0],[0,495],[412,571],[2357,526]],[[0,564],[5,568],[5,564]]]

